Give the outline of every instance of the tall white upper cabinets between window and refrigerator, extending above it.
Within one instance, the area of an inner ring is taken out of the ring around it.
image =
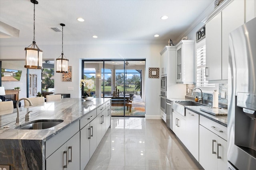
[[[228,35],[244,24],[244,1],[234,0],[206,22],[206,80],[228,80]]]

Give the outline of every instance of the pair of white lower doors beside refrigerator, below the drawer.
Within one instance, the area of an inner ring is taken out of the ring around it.
[[[205,170],[227,169],[227,141],[199,125],[199,163]]]

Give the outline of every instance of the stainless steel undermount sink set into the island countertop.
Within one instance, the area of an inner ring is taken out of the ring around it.
[[[61,120],[61,119],[34,120],[34,121],[30,121],[28,123],[19,125],[19,126],[15,127],[15,129],[48,129],[48,128],[54,127],[62,122],[63,122],[63,120]]]

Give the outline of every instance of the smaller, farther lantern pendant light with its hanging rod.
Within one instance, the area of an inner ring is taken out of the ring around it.
[[[57,65],[56,72],[68,73],[68,59],[63,54],[63,27],[65,26],[65,24],[61,23],[60,25],[62,26],[62,53],[60,55],[61,58],[58,57],[58,59],[56,59],[56,65]],[[64,59],[63,57],[65,57],[66,59]]]

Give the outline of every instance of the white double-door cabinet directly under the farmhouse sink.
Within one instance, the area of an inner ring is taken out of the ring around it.
[[[172,131],[186,145],[186,120],[184,116],[172,112]]]

